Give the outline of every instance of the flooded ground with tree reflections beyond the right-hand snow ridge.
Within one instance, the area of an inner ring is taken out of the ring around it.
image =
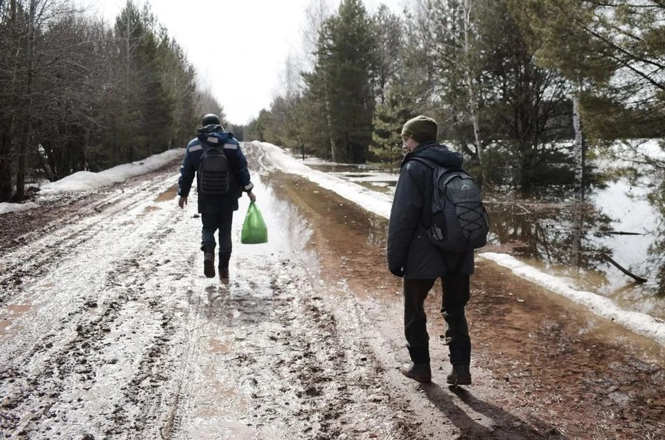
[[[397,173],[310,162],[305,161],[348,182],[394,193]],[[565,277],[574,288],[609,297],[626,310],[665,319],[665,258],[659,252],[663,219],[648,202],[646,189],[621,178],[588,188],[583,204],[574,204],[569,191],[559,193],[538,199],[488,193],[491,235],[486,249]]]

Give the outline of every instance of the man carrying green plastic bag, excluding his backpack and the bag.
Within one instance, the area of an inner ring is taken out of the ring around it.
[[[229,278],[229,260],[231,259],[231,224],[233,222],[233,211],[238,211],[238,198],[242,191],[247,192],[249,200],[256,201],[256,196],[251,192],[254,184],[249,179],[247,170],[247,159],[240,150],[240,143],[233,138],[233,134],[225,132],[220,125],[220,118],[214,114],[206,114],[203,117],[201,127],[197,135],[189,141],[185,150],[185,157],[180,168],[180,179],[178,180],[178,195],[180,199],[178,206],[184,208],[187,197],[192,188],[195,175],[201,179],[199,161],[206,150],[211,146],[222,147],[224,155],[233,172],[229,179],[229,191],[220,195],[202,194],[200,183],[197,182],[198,209],[201,213],[203,229],[201,233],[201,250],[204,252],[203,268],[208,278],[215,276],[215,231],[220,234],[220,279]]]

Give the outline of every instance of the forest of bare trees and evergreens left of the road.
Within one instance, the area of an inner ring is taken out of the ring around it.
[[[112,26],[73,4],[0,0],[0,202],[182,147],[201,114],[224,116],[147,3]]]

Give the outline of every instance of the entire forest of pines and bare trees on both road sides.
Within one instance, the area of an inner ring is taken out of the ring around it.
[[[148,3],[112,26],[71,4],[0,0],[0,202],[224,116]],[[229,125],[238,139],[396,169],[402,124],[427,114],[488,188],[580,193],[597,179],[588,159],[612,155],[662,174],[636,140],[665,127],[663,1],[311,0],[303,18],[272,104]]]

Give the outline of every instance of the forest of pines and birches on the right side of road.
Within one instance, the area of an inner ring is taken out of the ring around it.
[[[332,161],[402,157],[417,114],[490,188],[526,195],[594,177],[587,159],[662,163],[635,139],[662,137],[665,2],[414,0],[402,14],[360,0],[314,2],[305,56],[249,137]],[[328,7],[328,9],[326,9]]]

